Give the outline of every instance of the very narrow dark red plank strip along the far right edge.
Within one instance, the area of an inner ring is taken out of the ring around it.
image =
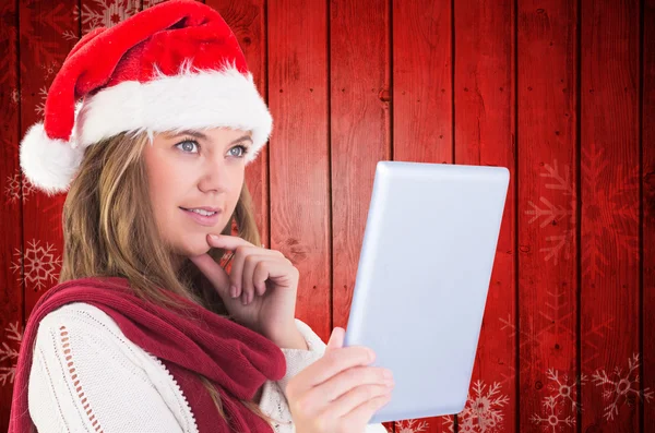
[[[655,0],[645,0],[642,88],[642,338],[644,393],[641,422],[644,433],[655,433]]]

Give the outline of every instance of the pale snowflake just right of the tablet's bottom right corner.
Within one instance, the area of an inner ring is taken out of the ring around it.
[[[474,395],[468,393],[466,406],[457,413],[457,431],[461,433],[492,433],[502,431],[502,407],[510,401],[507,395],[500,395],[500,384],[487,385],[478,380],[473,385]],[[454,432],[454,417],[444,417],[451,432]]]

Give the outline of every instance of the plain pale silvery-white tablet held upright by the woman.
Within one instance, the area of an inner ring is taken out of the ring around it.
[[[344,341],[394,374],[370,422],[464,408],[509,179],[503,167],[378,163]]]

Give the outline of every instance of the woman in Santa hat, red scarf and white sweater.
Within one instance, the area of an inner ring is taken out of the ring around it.
[[[367,423],[389,372],[343,348],[344,329],[325,346],[296,320],[298,270],[259,246],[245,168],[271,130],[234,34],[200,2],[75,45],[21,144],[27,179],[68,196],[10,432],[385,431]]]

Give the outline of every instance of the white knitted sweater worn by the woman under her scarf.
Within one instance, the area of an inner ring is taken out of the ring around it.
[[[303,322],[296,325],[309,350],[282,349],[287,372],[264,384],[260,408],[278,421],[278,433],[295,431],[286,385],[325,352]],[[72,373],[71,373],[72,371]],[[130,341],[104,311],[67,304],[40,322],[28,385],[29,416],[40,433],[198,432],[187,398],[166,366]],[[369,424],[366,433],[386,433]]]

